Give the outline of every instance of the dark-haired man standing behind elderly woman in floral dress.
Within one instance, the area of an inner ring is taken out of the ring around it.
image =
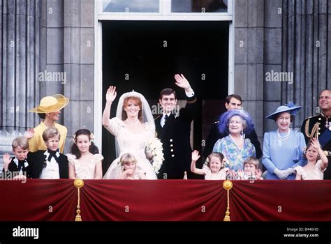
[[[230,109],[242,109],[242,98],[237,94],[232,94],[226,97],[226,109],[228,111]],[[209,132],[209,135],[206,139],[205,151],[203,151],[203,156],[205,158],[208,157],[210,153],[212,153],[212,149],[214,148],[214,144],[218,139],[222,139],[223,137],[228,136],[227,133],[221,134],[219,132],[219,121],[216,121],[212,124],[212,129]],[[252,130],[251,133],[246,134],[245,138],[249,138],[251,140],[251,144],[254,145],[256,151],[256,158],[260,158],[262,156],[262,150],[260,142],[258,142],[258,136],[256,135],[255,129]]]

